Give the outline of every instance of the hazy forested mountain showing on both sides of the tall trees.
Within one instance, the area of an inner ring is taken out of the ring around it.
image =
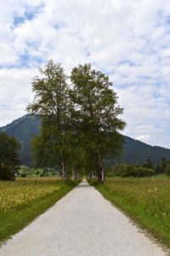
[[[32,162],[30,140],[34,134],[38,134],[41,125],[41,119],[36,115],[26,114],[20,119],[14,120],[11,124],[0,127],[0,132],[5,131],[9,136],[14,136],[21,142],[20,161],[23,165],[30,166]],[[131,137],[124,136],[124,153],[120,160],[127,164],[142,164],[149,157],[152,163],[160,161],[162,157],[170,159],[170,149],[150,146]]]

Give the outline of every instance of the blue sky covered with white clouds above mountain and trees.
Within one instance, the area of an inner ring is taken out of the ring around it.
[[[49,59],[109,75],[123,134],[170,148],[169,0],[0,1],[0,126],[26,114]]]

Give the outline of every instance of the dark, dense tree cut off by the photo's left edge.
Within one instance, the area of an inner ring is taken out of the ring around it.
[[[0,133],[0,179],[14,179],[20,168],[19,149],[20,143],[14,137]]]

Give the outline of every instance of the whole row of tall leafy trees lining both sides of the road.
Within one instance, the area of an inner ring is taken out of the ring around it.
[[[32,141],[36,166],[59,166],[62,180],[91,172],[105,181],[103,160],[118,157],[125,122],[122,108],[104,73],[79,65],[71,76],[54,61],[48,61],[32,79],[34,102],[28,113],[42,117],[39,136]]]

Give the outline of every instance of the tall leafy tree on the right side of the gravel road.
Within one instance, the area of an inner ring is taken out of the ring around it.
[[[71,84],[71,118],[82,134],[83,148],[94,157],[99,181],[104,183],[103,159],[117,157],[122,151],[123,137],[119,131],[126,124],[117,118],[122,108],[117,104],[109,77],[93,70],[90,64],[72,69]]]

